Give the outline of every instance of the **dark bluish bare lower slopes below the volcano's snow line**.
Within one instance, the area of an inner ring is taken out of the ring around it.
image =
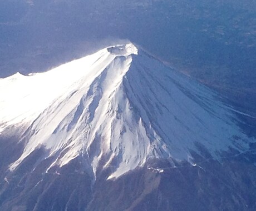
[[[48,173],[47,160],[32,169],[42,152],[37,150],[22,167],[8,173],[8,182],[1,177],[1,210],[256,209],[253,147],[240,155],[227,153],[221,163],[195,160],[195,165],[174,167],[168,160],[155,160],[116,180],[106,180],[110,169],[93,179],[84,172],[80,158]],[[157,167],[164,172],[155,171]]]

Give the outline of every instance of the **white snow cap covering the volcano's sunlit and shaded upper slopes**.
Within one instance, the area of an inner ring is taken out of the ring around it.
[[[10,169],[42,146],[45,158],[56,156],[48,169],[81,155],[94,174],[111,166],[109,179],[150,158],[190,159],[196,142],[215,158],[229,147],[247,147],[232,108],[145,52],[137,54],[133,44],[114,46],[45,73],[0,79],[0,134],[11,125],[29,128]]]

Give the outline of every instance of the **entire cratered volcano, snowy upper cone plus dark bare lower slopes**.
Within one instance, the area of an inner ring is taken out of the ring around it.
[[[2,78],[0,210],[255,210],[241,115],[131,43]]]

